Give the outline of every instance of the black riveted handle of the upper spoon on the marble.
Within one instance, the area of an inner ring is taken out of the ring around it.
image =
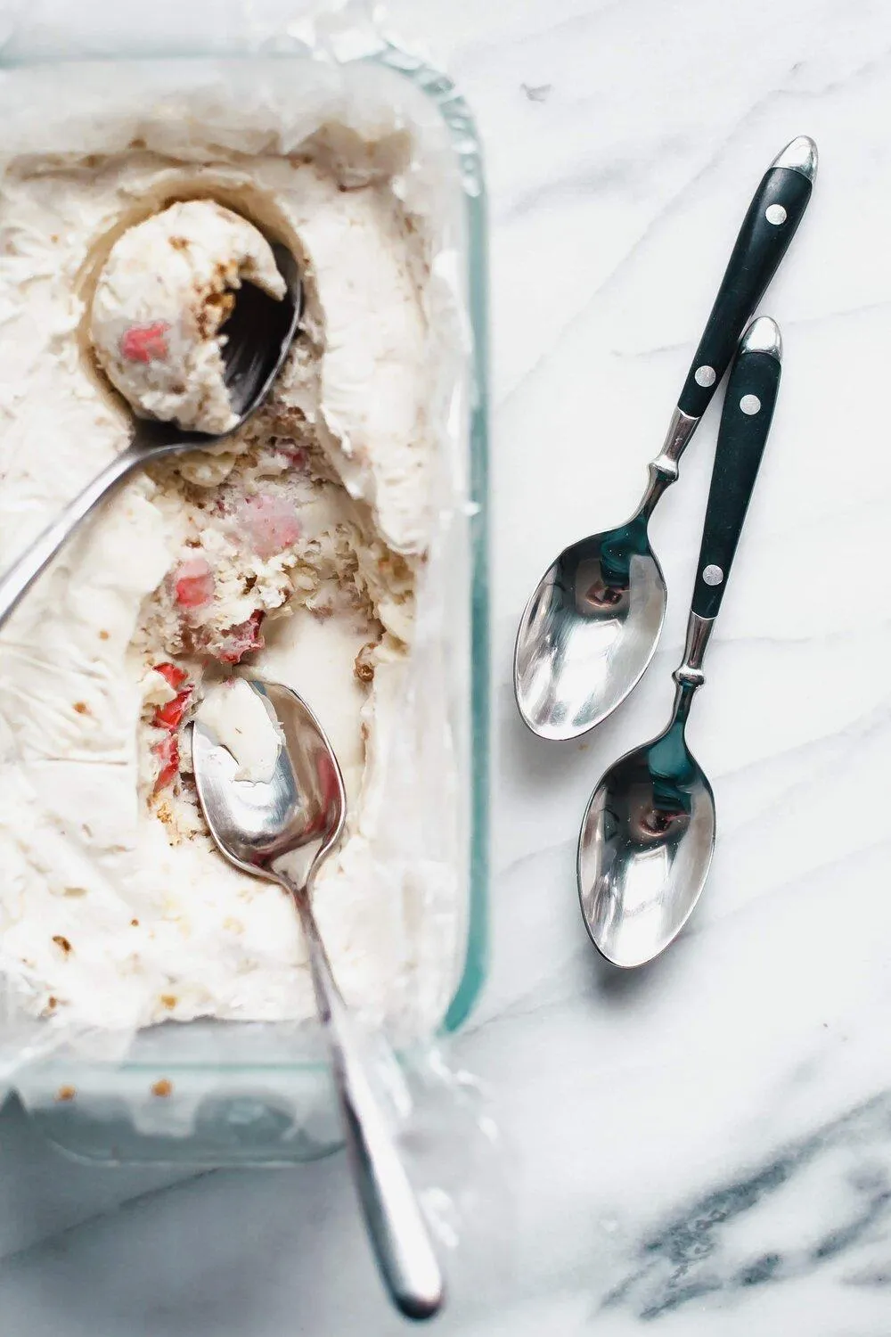
[[[687,373],[677,401],[681,413],[700,418],[708,408],[745,322],[801,222],[815,175],[816,144],[807,135],[787,144],[764,172]]]

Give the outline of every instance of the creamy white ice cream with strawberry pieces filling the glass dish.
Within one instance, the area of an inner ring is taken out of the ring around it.
[[[299,690],[343,769],[347,830],[317,910],[346,996],[425,1027],[454,984],[452,874],[431,854],[449,822],[441,655],[422,703],[413,667],[437,447],[427,243],[394,189],[410,144],[286,152],[256,115],[260,130],[164,120],[163,151],[144,131],[92,156],[29,154],[0,183],[0,566],[126,444],[90,330],[111,374],[127,322],[172,330],[192,310],[192,271],[160,263],[160,305],[140,305],[156,247],[188,239],[202,274],[226,253],[273,291],[256,221],[306,287],[267,405],[128,481],[0,636],[0,967],[57,1025],[314,1015],[293,906],[222,860],[195,801],[188,721],[240,667]],[[182,198],[211,202],[214,227],[170,207]],[[202,349],[183,336],[182,393],[148,384],[151,356],[131,380],[115,364],[116,384],[144,412],[223,422]]]

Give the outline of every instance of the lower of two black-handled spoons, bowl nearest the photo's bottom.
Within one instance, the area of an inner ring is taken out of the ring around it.
[[[581,913],[592,943],[614,965],[643,965],[677,937],[712,861],[715,798],[684,726],[705,681],[703,655],[761,463],[780,360],[776,324],[752,321],[727,386],[672,718],[659,738],[609,767],[581,824]]]

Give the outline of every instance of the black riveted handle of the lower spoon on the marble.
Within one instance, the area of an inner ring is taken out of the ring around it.
[[[727,384],[691,612],[713,619],[764,453],[780,388],[783,341],[769,316],[745,330]]]

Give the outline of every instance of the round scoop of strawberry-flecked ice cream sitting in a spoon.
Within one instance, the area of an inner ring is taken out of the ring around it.
[[[211,435],[236,425],[220,328],[243,282],[285,295],[266,238],[215,201],[171,205],[118,238],[90,334],[108,380],[140,417]]]

